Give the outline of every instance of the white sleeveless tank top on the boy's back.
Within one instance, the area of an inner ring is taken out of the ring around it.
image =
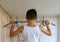
[[[39,30],[39,26],[29,27],[27,25],[24,26],[24,30],[22,32],[22,37],[24,42],[38,42],[38,39],[41,35]]]

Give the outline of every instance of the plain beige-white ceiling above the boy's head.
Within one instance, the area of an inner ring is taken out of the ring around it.
[[[60,15],[60,0],[0,0],[0,3],[11,13],[25,17],[28,9],[37,10],[38,16]]]

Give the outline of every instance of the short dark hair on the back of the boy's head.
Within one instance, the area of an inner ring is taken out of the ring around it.
[[[26,12],[26,18],[28,20],[34,20],[35,18],[37,18],[37,11],[35,9],[29,9]]]

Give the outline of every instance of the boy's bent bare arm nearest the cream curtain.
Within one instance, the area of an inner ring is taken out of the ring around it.
[[[14,23],[12,23],[14,24]],[[14,26],[11,25],[10,27],[10,37],[14,37],[16,35],[18,35],[19,33],[22,33],[24,29],[24,26],[20,26],[16,31],[14,31]]]

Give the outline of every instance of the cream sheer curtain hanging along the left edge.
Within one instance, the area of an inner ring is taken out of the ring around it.
[[[9,16],[0,8],[0,42],[10,42],[9,27],[3,27],[9,22]]]

